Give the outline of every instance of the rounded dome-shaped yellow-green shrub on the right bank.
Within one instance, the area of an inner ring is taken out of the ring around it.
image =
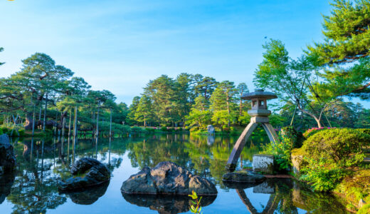
[[[332,128],[315,133],[308,138],[302,149],[316,160],[324,158],[337,164],[357,162],[362,146],[370,141],[370,135],[350,128]]]

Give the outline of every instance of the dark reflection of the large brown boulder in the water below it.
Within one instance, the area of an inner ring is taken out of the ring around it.
[[[151,210],[157,210],[158,213],[186,213],[190,205],[193,205],[191,198],[187,195],[134,195],[122,193],[127,202],[140,207],[146,207]],[[204,195],[201,198],[201,206],[205,207],[213,203],[216,195]]]

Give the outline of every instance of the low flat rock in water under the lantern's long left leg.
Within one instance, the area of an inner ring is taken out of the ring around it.
[[[240,183],[261,183],[266,179],[265,176],[256,174],[250,171],[238,171],[234,173],[226,173],[222,176],[222,180],[228,182]]]

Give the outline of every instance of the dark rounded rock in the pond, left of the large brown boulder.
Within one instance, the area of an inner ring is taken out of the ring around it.
[[[80,190],[110,180],[110,170],[94,158],[81,158],[70,169],[73,176],[59,181],[60,190]]]

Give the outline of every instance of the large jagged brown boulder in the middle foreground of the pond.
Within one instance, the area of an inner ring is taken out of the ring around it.
[[[164,161],[154,168],[144,167],[122,183],[127,194],[217,195],[216,186],[206,178],[192,175],[176,163]]]

